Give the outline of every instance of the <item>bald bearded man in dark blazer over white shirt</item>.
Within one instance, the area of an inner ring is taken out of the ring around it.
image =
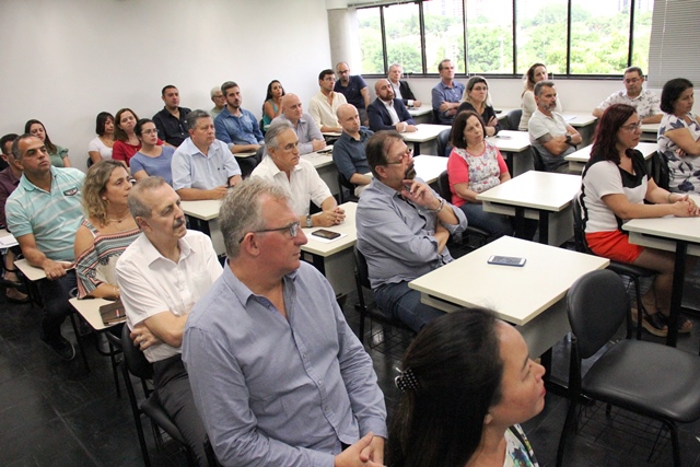
[[[372,131],[396,130],[399,133],[417,131],[416,121],[400,98],[394,98],[394,89],[389,80],[374,83],[376,98],[368,107]]]

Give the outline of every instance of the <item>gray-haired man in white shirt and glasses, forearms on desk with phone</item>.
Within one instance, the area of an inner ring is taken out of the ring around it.
[[[267,155],[255,167],[252,177],[275,182],[291,195],[292,206],[305,227],[329,227],[342,223],[342,208],[320,178],[314,165],[299,154],[299,138],[289,120],[276,119],[265,133]],[[313,201],[320,212],[311,214]]]

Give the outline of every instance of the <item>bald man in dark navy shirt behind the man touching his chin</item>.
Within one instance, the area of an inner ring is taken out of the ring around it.
[[[354,196],[359,198],[372,182],[368,175],[370,165],[364,155],[364,143],[374,132],[360,127],[360,115],[352,104],[338,107],[338,121],[342,133],[332,145],[332,162],[345,179],[355,186]]]

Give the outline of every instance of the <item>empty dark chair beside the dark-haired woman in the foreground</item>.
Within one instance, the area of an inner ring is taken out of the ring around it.
[[[676,423],[700,419],[700,359],[668,346],[621,339],[582,376],[582,361],[608,346],[626,317],[629,334],[630,305],[621,279],[606,269],[581,277],[567,294],[567,313],[572,334],[569,410],[557,466],[563,465],[582,396],[661,421],[670,434],[674,465],[680,466]]]

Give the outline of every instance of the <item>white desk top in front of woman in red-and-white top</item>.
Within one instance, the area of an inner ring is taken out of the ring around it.
[[[569,206],[580,188],[579,175],[529,171],[483,191],[477,199],[558,212]]]

